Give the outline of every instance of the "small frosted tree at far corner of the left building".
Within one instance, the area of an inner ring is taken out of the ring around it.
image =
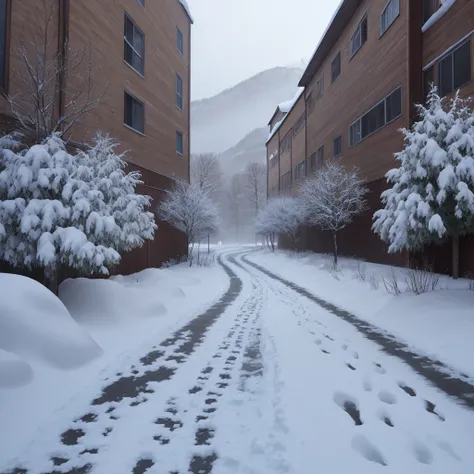
[[[191,246],[214,234],[219,226],[219,211],[206,192],[186,181],[176,181],[158,209],[160,219],[185,233]]]

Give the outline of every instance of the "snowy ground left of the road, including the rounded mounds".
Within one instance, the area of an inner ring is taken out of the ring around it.
[[[207,308],[227,284],[218,265],[182,264],[68,280],[64,306],[36,282],[0,274],[0,472],[40,427],[89,401],[101,380]]]

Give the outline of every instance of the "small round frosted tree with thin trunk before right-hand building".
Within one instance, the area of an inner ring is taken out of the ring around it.
[[[304,181],[300,191],[308,223],[332,234],[336,266],[337,234],[366,209],[367,188],[357,170],[348,171],[331,160]]]

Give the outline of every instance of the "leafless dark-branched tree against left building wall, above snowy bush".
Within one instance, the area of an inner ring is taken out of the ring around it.
[[[14,95],[7,95],[13,118],[20,131],[40,143],[55,132],[63,137],[81,117],[99,106],[105,88],[98,89],[96,68],[90,48],[73,51],[67,37],[52,34],[58,9],[45,0],[44,20],[28,44],[21,44],[18,54],[22,67],[16,68]]]

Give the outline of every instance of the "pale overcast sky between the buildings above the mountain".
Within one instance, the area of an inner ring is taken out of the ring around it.
[[[188,0],[192,98],[275,66],[308,61],[339,0]]]

